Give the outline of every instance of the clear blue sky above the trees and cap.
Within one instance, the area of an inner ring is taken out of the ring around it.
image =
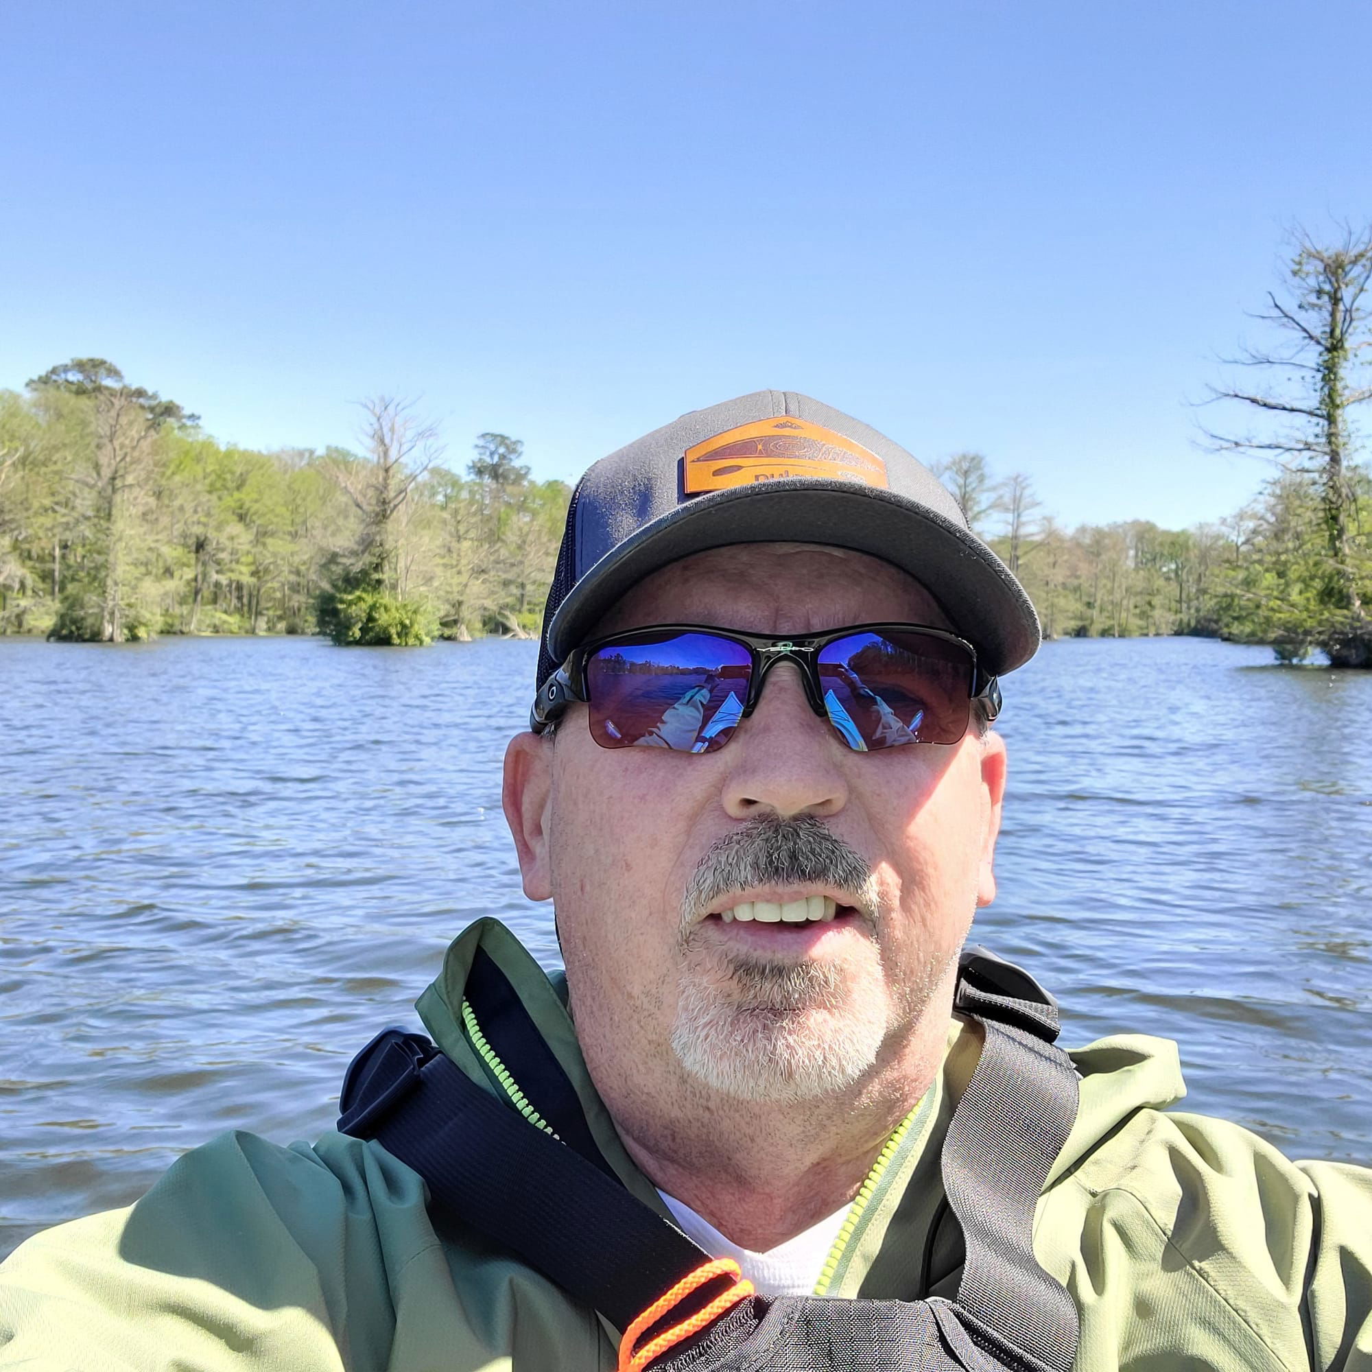
[[[7,5],[0,386],[104,355],[259,447],[402,392],[542,477],[777,387],[1069,524],[1217,519],[1264,469],[1187,402],[1284,229],[1372,215],[1369,40],[1365,0]]]

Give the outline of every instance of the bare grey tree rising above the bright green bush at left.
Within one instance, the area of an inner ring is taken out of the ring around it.
[[[391,595],[402,594],[401,539],[409,516],[414,483],[442,457],[438,428],[421,423],[410,401],[375,395],[362,401],[362,442],[366,456],[348,462],[338,454],[325,458],[335,482],[362,516],[358,564],[375,584]]]

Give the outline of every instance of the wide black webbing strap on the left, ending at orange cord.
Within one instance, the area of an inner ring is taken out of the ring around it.
[[[427,1040],[388,1034],[365,1050],[370,1065],[350,1070],[339,1131],[375,1139],[413,1168],[428,1183],[435,1220],[513,1249],[620,1329],[709,1261],[622,1181],[483,1091]]]

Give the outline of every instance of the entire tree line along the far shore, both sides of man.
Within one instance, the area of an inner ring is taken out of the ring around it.
[[[1255,498],[1188,530],[1063,528],[1032,479],[982,454],[936,469],[1024,582],[1050,637],[1203,634],[1372,667],[1372,232],[1297,230],[1273,346],[1233,358],[1210,402],[1273,424],[1206,429],[1272,462]],[[119,642],[180,632],[327,632],[336,642],[536,632],[569,488],[523,443],[482,434],[458,472],[402,401],[362,405],[357,450],[262,453],[77,358],[0,391],[0,632]]]

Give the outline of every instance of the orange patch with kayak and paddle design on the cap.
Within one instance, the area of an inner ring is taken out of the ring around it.
[[[771,418],[740,424],[686,449],[682,491],[701,495],[730,486],[786,476],[886,486],[886,464],[842,434],[804,420]]]

